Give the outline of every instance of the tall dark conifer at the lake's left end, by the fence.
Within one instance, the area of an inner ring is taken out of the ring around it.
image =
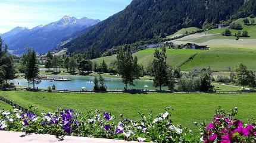
[[[33,82],[33,89],[35,89],[35,81],[38,78],[39,68],[36,65],[36,53],[34,50],[27,51],[25,78],[27,81]]]

